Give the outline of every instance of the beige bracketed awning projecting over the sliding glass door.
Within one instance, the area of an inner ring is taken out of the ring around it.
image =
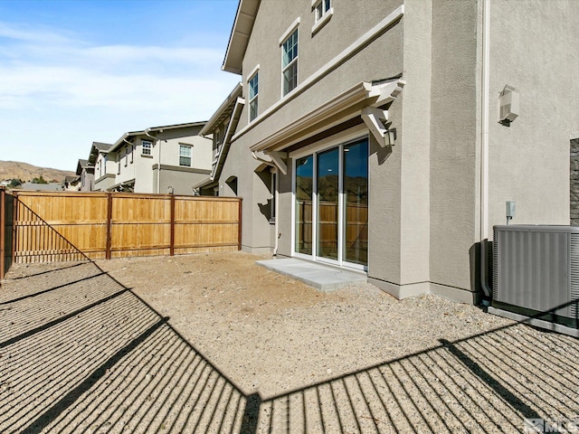
[[[406,84],[404,80],[391,80],[373,84],[362,81],[342,94],[318,106],[265,137],[250,147],[253,153],[272,154],[313,137],[331,127],[360,116],[366,108],[379,108],[396,99]]]

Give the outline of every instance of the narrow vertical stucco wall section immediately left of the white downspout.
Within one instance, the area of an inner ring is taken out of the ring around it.
[[[477,2],[432,0],[431,281],[470,288],[477,241]]]

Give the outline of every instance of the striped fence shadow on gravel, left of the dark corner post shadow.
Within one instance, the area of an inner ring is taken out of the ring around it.
[[[252,397],[167,318],[96,264],[77,269],[87,276],[32,276],[52,288],[0,305],[0,431],[240,432],[256,420]]]

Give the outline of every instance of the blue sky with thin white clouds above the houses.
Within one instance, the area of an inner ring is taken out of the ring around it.
[[[76,170],[93,141],[206,120],[237,0],[0,0],[0,160]]]

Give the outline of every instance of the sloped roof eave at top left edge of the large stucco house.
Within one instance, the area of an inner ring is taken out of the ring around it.
[[[255,15],[260,7],[261,0],[240,0],[235,14],[232,33],[227,44],[227,52],[221,69],[223,71],[242,73],[243,56],[252,34]]]

